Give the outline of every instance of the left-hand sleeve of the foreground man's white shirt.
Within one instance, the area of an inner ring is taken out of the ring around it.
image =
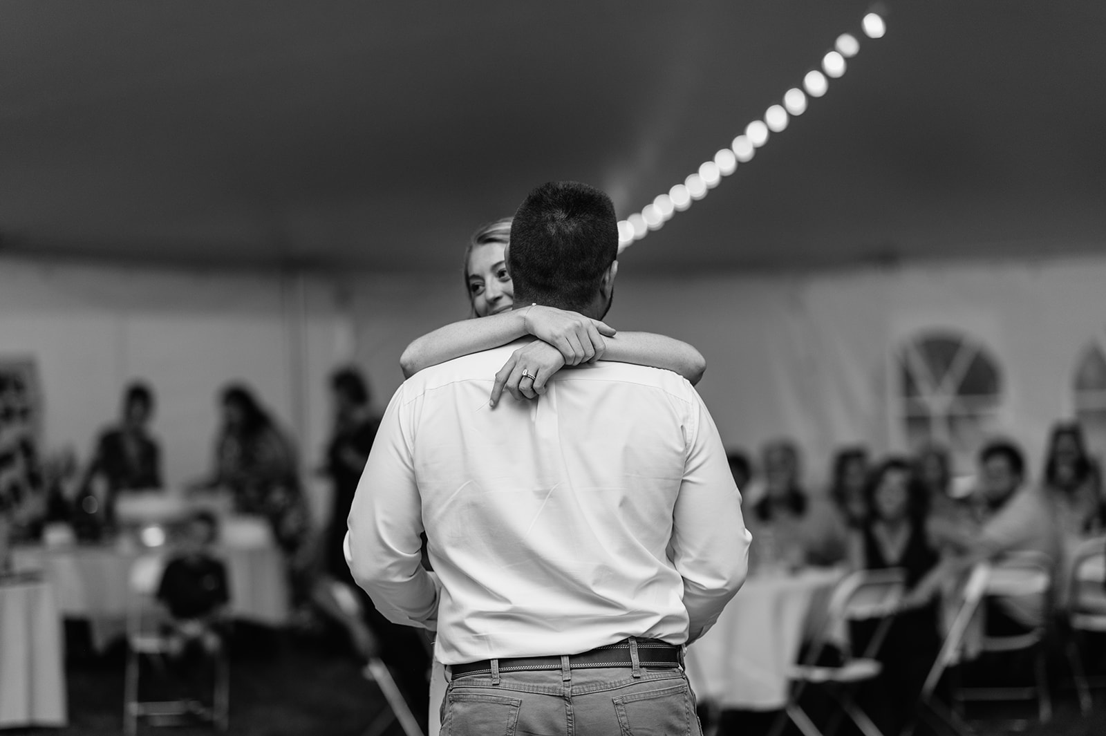
[[[349,571],[389,621],[437,628],[438,592],[422,569],[422,512],[411,442],[414,402],[392,398],[347,519]]]

